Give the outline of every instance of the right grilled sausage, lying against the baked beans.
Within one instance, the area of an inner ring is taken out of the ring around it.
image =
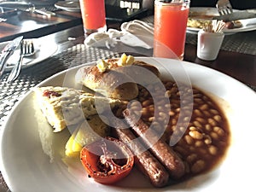
[[[180,159],[175,151],[167,143],[158,139],[156,132],[150,130],[142,119],[137,120],[136,115],[131,113],[129,109],[125,109],[123,114],[127,123],[131,125],[131,128],[136,131],[138,136],[142,137],[143,142],[150,148],[154,156],[166,166],[170,177],[174,179],[183,177],[185,166],[183,160]]]

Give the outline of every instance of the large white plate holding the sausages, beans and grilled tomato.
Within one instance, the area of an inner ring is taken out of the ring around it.
[[[155,64],[161,72],[165,67],[168,73],[164,74],[172,73],[174,79],[186,79],[185,74],[188,74],[192,84],[219,97],[216,101],[225,109],[232,137],[221,165],[212,172],[161,189],[151,187],[138,172],[132,172],[115,186],[95,183],[86,176],[80,164],[67,167],[63,163],[61,154],[67,133],[53,133],[29,92],[10,113],[1,137],[1,171],[11,191],[242,191],[245,186],[254,189],[255,179],[251,173],[256,172],[256,94],[253,90],[223,73],[193,63],[151,57],[139,59]],[[75,87],[73,76],[78,68],[58,73],[39,86]],[[44,137],[52,139],[47,142],[53,147],[55,160],[52,163],[40,143],[38,127],[41,126],[46,134]]]

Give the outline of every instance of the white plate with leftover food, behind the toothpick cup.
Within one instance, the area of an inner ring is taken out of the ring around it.
[[[234,11],[237,11],[236,9]],[[216,8],[190,8],[189,13],[194,13],[196,15],[205,16],[205,19],[207,20],[207,16],[218,16],[218,11]],[[253,19],[247,19],[247,20],[239,20],[241,22],[241,27],[234,28],[234,29],[225,29],[224,33],[226,35],[234,34],[236,32],[249,32],[256,30],[256,18]],[[199,32],[199,28],[194,27],[187,27],[187,32],[197,34]]]

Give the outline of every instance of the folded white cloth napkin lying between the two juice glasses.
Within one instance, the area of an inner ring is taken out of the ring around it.
[[[154,28],[141,20],[125,22],[121,31],[108,29],[108,32],[95,32],[84,40],[87,47],[114,47],[119,42],[133,46],[151,49],[153,47]]]

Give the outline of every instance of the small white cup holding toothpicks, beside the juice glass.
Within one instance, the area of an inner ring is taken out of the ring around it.
[[[223,39],[224,32],[205,32],[201,29],[197,38],[197,57],[206,61],[216,60]]]

